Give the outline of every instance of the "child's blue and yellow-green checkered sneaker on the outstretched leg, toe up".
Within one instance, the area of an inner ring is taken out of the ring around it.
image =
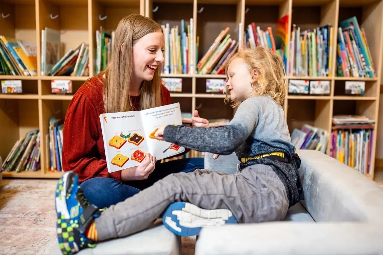
[[[74,172],[65,172],[57,183],[55,193],[57,239],[62,254],[69,255],[85,248],[94,248],[95,242],[85,237],[85,231],[100,210],[88,202]]]

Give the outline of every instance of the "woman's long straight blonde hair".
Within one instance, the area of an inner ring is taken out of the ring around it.
[[[133,45],[141,37],[155,31],[162,31],[160,24],[138,14],[125,16],[118,23],[111,52],[111,62],[105,68],[103,79],[103,102],[106,113],[125,112],[133,109],[130,99],[133,74]],[[123,51],[121,45],[124,44]],[[155,70],[151,81],[143,81],[140,89],[140,108],[143,110],[161,105],[161,78]]]

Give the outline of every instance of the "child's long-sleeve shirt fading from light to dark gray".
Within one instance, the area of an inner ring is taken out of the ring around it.
[[[164,130],[164,139],[197,151],[222,155],[235,152],[239,159],[282,151],[290,160],[295,153],[282,106],[270,96],[250,97],[243,101],[227,126],[197,128],[168,125]],[[269,161],[252,160],[241,163],[241,167],[260,162],[266,164]],[[270,164],[275,166],[275,162]],[[279,171],[278,176],[285,184],[287,193],[299,197],[296,188],[298,177],[290,165],[277,163],[277,174]],[[292,198],[290,203],[295,204],[297,199]]]

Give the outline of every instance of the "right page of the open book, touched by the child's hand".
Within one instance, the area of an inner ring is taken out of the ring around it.
[[[150,148],[150,153],[154,155],[157,160],[173,155],[175,156],[176,154],[185,151],[184,147],[165,141],[159,141],[154,138],[154,133],[157,128],[163,125],[182,125],[179,103],[142,110],[141,117],[145,133],[147,134],[147,144]]]

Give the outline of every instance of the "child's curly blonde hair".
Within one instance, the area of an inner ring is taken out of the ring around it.
[[[227,77],[229,64],[237,57],[242,58],[249,65],[250,73],[253,70],[259,73],[257,81],[252,84],[254,89],[247,97],[269,95],[282,106],[287,93],[285,68],[283,67],[282,58],[260,46],[255,47],[255,49],[239,49],[229,58],[226,64],[225,73],[227,79],[229,79]],[[230,102],[233,108],[239,106],[241,102],[231,101],[228,87],[226,86],[225,89],[225,102]]]

